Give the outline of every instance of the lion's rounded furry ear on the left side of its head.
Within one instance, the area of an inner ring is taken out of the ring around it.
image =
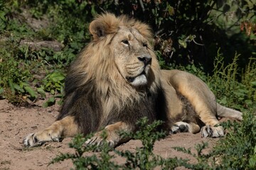
[[[107,34],[115,33],[118,27],[118,19],[111,13],[105,13],[90,23],[89,30],[93,40],[98,40]]]

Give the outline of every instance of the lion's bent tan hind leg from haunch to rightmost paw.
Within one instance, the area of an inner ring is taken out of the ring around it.
[[[202,137],[223,137],[224,130],[218,126],[217,103],[215,96],[208,86],[198,77],[187,72],[174,70],[166,72],[169,83],[185,96],[196,111],[198,117],[206,125],[201,129]]]

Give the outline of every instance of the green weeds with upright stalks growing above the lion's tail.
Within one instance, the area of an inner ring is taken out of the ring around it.
[[[208,77],[208,85],[215,92],[218,102],[240,110],[255,107],[255,59],[250,58],[242,75],[238,74],[240,55],[235,54],[233,62],[227,66],[224,65],[223,60],[224,57],[219,50],[214,62],[213,76]]]

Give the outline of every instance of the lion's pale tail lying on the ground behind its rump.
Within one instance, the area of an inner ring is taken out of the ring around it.
[[[232,108],[227,108],[221,106],[217,103],[217,115],[220,118],[235,118],[236,120],[242,120],[242,113],[240,111],[235,111]]]

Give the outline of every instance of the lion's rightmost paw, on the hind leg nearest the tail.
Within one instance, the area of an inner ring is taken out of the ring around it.
[[[222,126],[213,127],[211,125],[206,125],[201,128],[202,137],[223,137],[224,130]]]

